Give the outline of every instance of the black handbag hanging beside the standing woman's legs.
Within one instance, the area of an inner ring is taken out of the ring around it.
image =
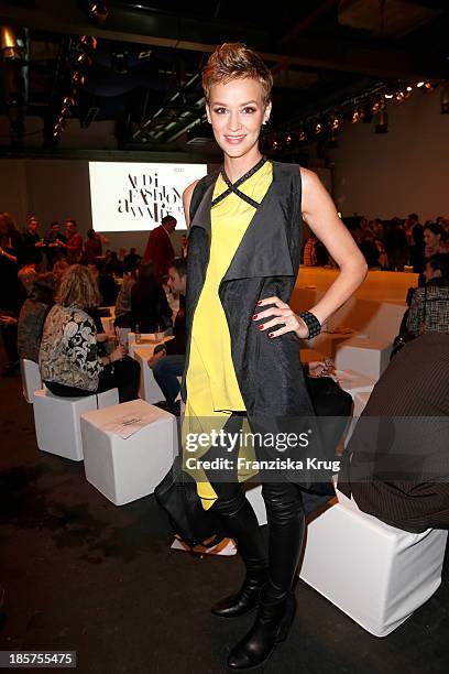
[[[168,514],[175,532],[190,547],[212,547],[226,537],[213,509],[205,510],[197,493],[197,485],[183,470],[182,458],[175,457],[172,468],[154,490],[157,503]]]

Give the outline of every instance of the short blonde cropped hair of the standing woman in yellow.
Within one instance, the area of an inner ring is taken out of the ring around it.
[[[273,76],[262,58],[242,42],[225,42],[209,56],[202,69],[202,88],[209,102],[210,89],[231,79],[256,79],[262,86],[263,104],[270,101]]]

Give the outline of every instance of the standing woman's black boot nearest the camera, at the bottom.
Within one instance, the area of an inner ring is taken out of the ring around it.
[[[292,591],[286,599],[276,604],[261,601],[253,627],[232,649],[228,666],[232,670],[248,670],[262,664],[276,643],[287,638],[295,610],[296,598]]]

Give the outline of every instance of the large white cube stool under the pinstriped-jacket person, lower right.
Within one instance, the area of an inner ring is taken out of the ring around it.
[[[385,637],[436,591],[448,532],[384,524],[338,492],[308,524],[300,578],[375,637]]]

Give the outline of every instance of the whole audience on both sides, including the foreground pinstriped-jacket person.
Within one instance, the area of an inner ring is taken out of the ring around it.
[[[396,480],[386,485],[372,476],[362,483],[357,469],[363,463],[362,448],[369,446],[362,433],[372,436],[366,420],[371,423],[373,416],[397,413],[448,414],[449,218],[421,225],[412,214],[404,221],[358,218],[347,225],[369,268],[413,269],[419,281],[409,289],[392,363],[381,376],[346,453],[341,490],[352,493],[361,510],[399,529],[448,528],[446,483]],[[3,374],[14,374],[20,359],[28,359],[39,363],[43,382],[55,395],[91,395],[117,388],[120,402],[130,401],[139,396],[140,365],[128,356],[120,331],[171,334],[169,341],[156,346],[147,366],[165,396],[158,404],[179,415],[187,240],[182,242],[182,256],[169,259],[168,253],[174,256],[169,235],[175,227],[173,217],[165,218],[150,235],[142,258],[135,248],[103,252],[109,241],[94,229],[84,240],[73,219],[66,221],[64,232],[54,221],[41,236],[36,218],[30,217],[21,235],[11,216],[0,213],[0,333],[9,359]],[[314,235],[304,243],[303,262],[335,264]],[[175,300],[179,308],[172,312]],[[101,323],[100,307],[106,306],[114,306],[110,334]],[[409,393],[404,395],[404,390]],[[393,449],[382,448],[388,470]],[[370,446],[370,452],[375,454],[376,447]],[[446,452],[445,443],[438,452]]]

